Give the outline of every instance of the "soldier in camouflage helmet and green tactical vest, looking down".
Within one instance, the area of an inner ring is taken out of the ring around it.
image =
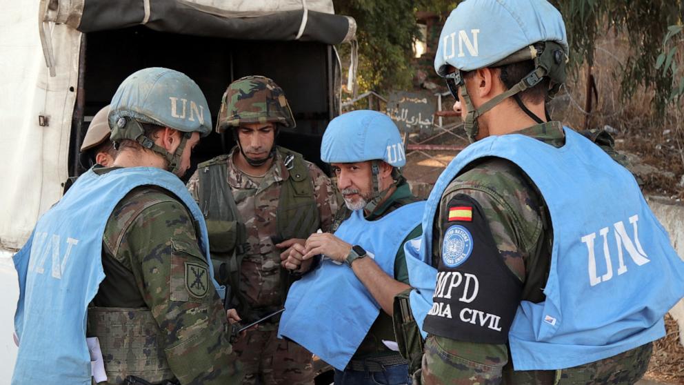
[[[233,291],[234,321],[253,322],[282,308],[293,277],[280,253],[330,230],[337,209],[330,179],[301,155],[275,145],[295,126],[283,90],[266,77],[228,86],[217,132],[232,130],[237,146],[200,164],[188,189],[208,220],[217,279]],[[248,330],[234,345],[245,384],[312,384],[312,355],[278,339],[279,317]]]

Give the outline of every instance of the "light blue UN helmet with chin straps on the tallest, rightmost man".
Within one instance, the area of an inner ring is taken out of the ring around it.
[[[467,115],[465,132],[475,140],[477,118],[508,97],[522,106],[519,92],[550,78],[549,97],[565,81],[567,39],[561,13],[545,0],[466,0],[454,9],[442,29],[434,58],[434,69],[447,80],[456,97],[459,87]],[[515,86],[475,109],[468,95],[463,72],[494,68],[533,60],[534,70]],[[456,68],[447,73],[448,66]],[[535,121],[539,117],[529,112]],[[547,117],[548,119],[548,117]]]

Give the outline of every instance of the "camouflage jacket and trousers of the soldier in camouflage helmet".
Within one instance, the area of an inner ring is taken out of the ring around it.
[[[262,177],[250,177],[234,164],[239,149],[234,147],[228,156],[227,183],[245,221],[247,242],[250,245],[241,264],[239,291],[253,310],[260,315],[282,308],[285,298],[281,287],[282,250],[274,246],[276,213],[283,181],[289,171],[281,152],[276,152],[271,168]],[[314,186],[314,199],[319,211],[321,230],[329,231],[337,210],[337,200],[330,179],[318,167],[305,162]],[[261,180],[259,180],[261,179]],[[188,190],[199,201],[199,174],[188,181]],[[245,319],[243,321],[253,320]],[[274,317],[275,318],[275,317]],[[257,330],[250,330],[234,344],[245,371],[244,384],[312,384],[312,355],[301,346],[276,337],[277,319],[263,322]],[[259,375],[263,376],[261,380]]]

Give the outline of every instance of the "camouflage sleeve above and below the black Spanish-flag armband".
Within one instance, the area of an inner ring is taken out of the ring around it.
[[[479,203],[490,225],[494,244],[505,265],[521,281],[525,262],[534,255],[542,235],[539,208],[534,193],[517,170],[506,161],[492,159],[486,167],[473,168],[447,187],[434,222],[433,259],[441,256],[443,224],[448,204],[456,195],[467,195]],[[505,344],[479,344],[430,336],[425,342],[421,373],[423,384],[499,384],[508,362]]]

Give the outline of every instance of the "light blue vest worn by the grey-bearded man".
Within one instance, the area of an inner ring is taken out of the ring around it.
[[[374,254],[376,264],[394,277],[396,253],[421,224],[424,208],[424,201],[414,202],[374,221],[356,210],[335,236]],[[379,313],[380,305],[352,269],[326,258],[290,288],[278,337],[292,339],[343,371]]]

